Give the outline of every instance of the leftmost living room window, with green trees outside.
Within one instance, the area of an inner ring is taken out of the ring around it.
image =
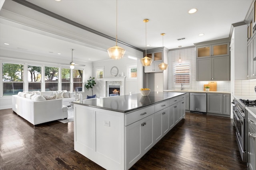
[[[23,64],[2,63],[3,96],[23,92]]]

